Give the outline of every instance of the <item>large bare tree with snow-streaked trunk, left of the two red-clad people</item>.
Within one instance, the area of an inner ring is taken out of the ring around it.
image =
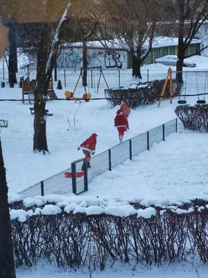
[[[63,22],[67,18],[71,1],[63,1],[65,7],[64,13],[60,19],[58,27],[56,28],[53,40],[51,40],[51,31],[53,22],[52,11],[54,6],[51,6],[51,1],[46,2],[46,20],[42,24],[42,34],[37,54],[37,77],[35,87],[35,117],[34,117],[34,141],[33,150],[35,152],[49,152],[46,140],[46,99],[49,87],[49,81],[52,76],[53,67],[58,56],[59,47],[61,44],[60,31]],[[61,7],[62,8],[62,7]]]

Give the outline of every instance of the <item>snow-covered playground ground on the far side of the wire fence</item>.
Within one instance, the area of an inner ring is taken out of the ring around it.
[[[192,59],[196,61],[196,70],[207,70],[208,58],[197,56]],[[166,76],[167,69],[168,67],[164,65],[148,65],[142,67],[142,74],[146,79],[146,73],[149,70],[151,79],[159,79]],[[174,67],[173,70],[175,70]],[[186,70],[191,71],[192,69],[187,68]],[[64,90],[73,91],[78,80],[79,72],[66,72],[66,88],[64,88],[63,70],[58,73],[63,87],[63,90],[55,89],[59,98],[64,98]],[[19,72],[19,76],[23,74],[24,70]],[[104,74],[110,87],[118,85],[117,71],[105,71]],[[121,71],[121,85],[134,82],[131,80],[131,74],[131,70]],[[204,78],[204,76],[202,77]],[[191,75],[191,77],[193,76]],[[35,78],[35,72],[31,72],[32,78]],[[199,85],[203,88],[203,79],[200,81]],[[191,84],[192,92],[196,92],[196,81],[190,78],[187,83]],[[18,88],[18,85],[15,85],[15,88],[8,87],[8,83],[6,83],[6,88],[1,88],[1,99],[21,99],[21,88]],[[55,87],[56,83],[54,84]],[[101,79],[99,92],[95,93],[94,89],[89,89],[89,91],[92,92],[92,97],[104,97],[104,88],[106,85]],[[83,93],[80,82],[75,96],[82,96]],[[188,101],[195,103],[196,97],[189,97]],[[125,133],[124,139],[132,138],[174,119],[175,106],[177,106],[177,98],[173,99],[172,105],[168,101],[162,101],[159,108],[157,108],[157,104],[153,104],[133,110],[129,118],[130,130]],[[114,117],[118,107],[111,108],[105,100],[83,101],[80,107],[74,101],[48,101],[46,108],[49,109],[50,113],[53,113],[53,117],[48,117],[46,128],[50,154],[46,156],[33,154],[33,115],[31,115],[29,107],[31,105],[28,104],[28,101],[25,104],[22,104],[21,101],[0,101],[0,117],[9,121],[8,128],[1,129],[9,193],[18,193],[28,186],[69,168],[71,161],[83,156],[81,152],[77,151],[77,147],[92,133],[98,134],[96,154],[119,143],[117,131],[114,128]],[[71,122],[70,129],[66,114]],[[146,171],[148,172],[147,167]]]

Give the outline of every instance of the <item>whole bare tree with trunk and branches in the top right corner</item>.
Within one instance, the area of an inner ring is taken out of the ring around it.
[[[175,0],[175,13],[178,18],[178,47],[177,47],[177,82],[182,83],[182,67],[184,58],[196,55],[186,55],[186,51],[195,37],[200,26],[207,20],[208,1],[206,0]]]

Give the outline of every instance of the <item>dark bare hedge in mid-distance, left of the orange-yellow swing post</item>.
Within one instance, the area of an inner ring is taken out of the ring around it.
[[[140,82],[138,84],[132,84],[129,87],[121,86],[119,88],[112,88],[105,90],[105,97],[109,99],[112,107],[121,104],[121,101],[125,99],[128,101],[128,105],[132,108],[143,106],[147,104],[153,104],[158,100],[164,86],[164,80],[155,80],[149,82]],[[182,88],[181,83],[176,83],[173,79],[173,96],[180,95]],[[168,81],[164,92],[164,99],[170,95],[170,82]]]

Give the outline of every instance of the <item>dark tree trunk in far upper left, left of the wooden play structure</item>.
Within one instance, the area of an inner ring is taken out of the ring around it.
[[[9,42],[10,42],[10,51],[9,51],[9,61],[8,61],[8,81],[9,83],[17,83],[17,35],[15,32],[15,27],[13,24],[10,24],[9,30]]]

